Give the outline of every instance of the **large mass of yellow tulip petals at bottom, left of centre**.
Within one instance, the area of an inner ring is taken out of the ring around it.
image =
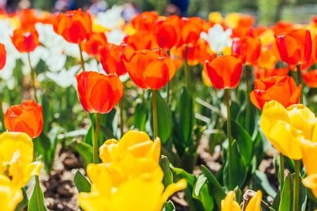
[[[159,166],[161,140],[129,131],[120,141],[110,139],[99,148],[103,163],[89,164],[90,193],[80,193],[84,210],[162,210],[173,193],[186,188],[184,179],[164,191]],[[123,203],[124,202],[124,203]]]

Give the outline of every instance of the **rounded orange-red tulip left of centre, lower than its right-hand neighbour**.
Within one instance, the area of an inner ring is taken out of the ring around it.
[[[123,84],[116,75],[83,71],[76,79],[80,103],[89,113],[109,113],[123,96]]]

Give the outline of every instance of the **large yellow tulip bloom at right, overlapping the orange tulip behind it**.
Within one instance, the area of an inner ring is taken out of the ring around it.
[[[303,157],[301,141],[314,138],[315,115],[302,104],[285,109],[278,101],[263,106],[261,129],[272,145],[283,155],[300,160]]]

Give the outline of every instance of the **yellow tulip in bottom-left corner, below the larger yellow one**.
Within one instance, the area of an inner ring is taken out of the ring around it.
[[[23,193],[18,186],[12,186],[8,177],[0,174],[0,210],[13,211],[23,200]]]

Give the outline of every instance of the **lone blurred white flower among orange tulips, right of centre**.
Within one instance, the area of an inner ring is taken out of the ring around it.
[[[220,54],[226,46],[232,46],[231,34],[232,30],[230,28],[224,31],[223,27],[216,23],[208,30],[208,34],[201,32],[200,37],[208,41],[211,51]]]

